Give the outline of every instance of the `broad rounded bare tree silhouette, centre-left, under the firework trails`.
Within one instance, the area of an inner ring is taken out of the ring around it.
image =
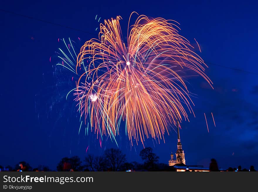
[[[104,153],[104,158],[106,160],[107,166],[112,169],[112,171],[120,171],[121,165],[126,161],[125,154],[122,153],[120,149],[107,149]]]

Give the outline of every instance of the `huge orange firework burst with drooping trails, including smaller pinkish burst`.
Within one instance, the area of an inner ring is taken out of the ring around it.
[[[140,15],[133,26],[128,23],[124,41],[120,20],[105,20],[99,38],[81,47],[77,67],[83,60],[89,63],[77,82],[79,110],[97,134],[114,138],[124,121],[132,142],[164,139],[176,114],[182,120],[188,119],[186,109],[193,112],[181,69],[191,69],[211,85],[206,64],[178,34],[175,21]]]

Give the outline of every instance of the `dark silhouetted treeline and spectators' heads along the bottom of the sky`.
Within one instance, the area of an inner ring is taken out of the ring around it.
[[[78,156],[64,157],[57,164],[57,171],[176,171],[173,166],[159,163],[159,157],[153,153],[151,147],[146,147],[140,151],[143,163],[127,162],[125,154],[120,149],[107,149],[102,156],[88,154],[83,161]],[[211,159],[210,171],[218,171],[218,164],[215,159]],[[12,168],[0,165],[0,171],[55,171],[48,166],[39,165],[32,168],[27,162],[19,162]],[[186,170],[189,171],[189,170]],[[249,170],[229,167],[226,171],[256,171],[254,166]]]

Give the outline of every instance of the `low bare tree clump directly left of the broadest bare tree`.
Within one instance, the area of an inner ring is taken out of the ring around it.
[[[102,156],[89,154],[84,161],[86,168],[90,171],[105,171],[107,169],[106,161]]]

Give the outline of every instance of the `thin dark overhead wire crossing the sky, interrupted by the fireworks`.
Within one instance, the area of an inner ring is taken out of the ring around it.
[[[38,18],[35,18],[35,17],[27,16],[27,15],[22,15],[22,14],[15,13],[15,12],[12,12],[12,11],[7,11],[7,10],[4,10],[4,9],[0,9],[0,11],[6,12],[6,13],[11,13],[11,14],[16,15],[16,16],[22,16],[22,17],[34,19],[34,20],[37,20],[37,21],[49,23],[49,24],[52,24],[52,25],[60,26],[60,27],[65,27],[65,28],[72,29],[72,30],[77,30],[77,31],[80,31],[80,32],[83,32],[83,33],[88,33],[88,34],[91,34],[91,35],[96,35],[96,34],[91,33],[89,31],[84,31],[84,30],[80,30],[80,29],[77,29],[77,28],[72,28],[72,27],[69,27],[69,26],[64,26],[64,25],[61,25],[61,24],[58,24],[58,23],[52,23],[50,21],[46,21],[46,20],[43,20],[43,19],[38,19]],[[232,70],[239,71],[239,72],[244,72],[244,73],[250,73],[250,74],[258,75],[258,73],[254,73],[254,72],[250,72],[250,71],[245,71],[245,70],[237,69],[237,68],[233,68],[233,67],[227,67],[227,66],[220,65],[220,64],[214,64],[214,63],[210,63],[210,62],[207,62],[207,64],[216,65],[216,66],[219,66],[219,67],[224,67],[224,68],[232,69]]]

